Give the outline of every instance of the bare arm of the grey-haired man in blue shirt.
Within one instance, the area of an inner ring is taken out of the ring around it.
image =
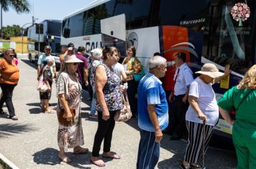
[[[147,105],[147,112],[150,115],[150,120],[155,128],[155,142],[159,143],[162,140],[163,133],[160,129],[159,122],[157,120],[157,115],[155,114],[155,105]]]

